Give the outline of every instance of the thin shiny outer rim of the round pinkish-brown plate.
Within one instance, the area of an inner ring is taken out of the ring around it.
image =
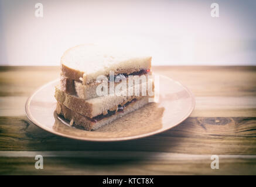
[[[30,96],[29,98],[26,100],[26,103],[25,103],[25,113],[26,113],[26,116],[28,117],[28,119],[30,120],[30,122],[32,122],[33,124],[35,124],[37,127],[39,127],[40,129],[43,129],[49,133],[52,133],[52,134],[56,134],[57,136],[61,136],[61,137],[66,137],[66,138],[71,138],[71,139],[74,139],[74,140],[81,140],[81,141],[94,141],[94,142],[114,142],[114,141],[127,141],[127,140],[136,140],[136,139],[139,139],[139,138],[145,138],[145,137],[149,137],[149,136],[153,136],[155,134],[159,134],[159,133],[163,133],[164,131],[166,130],[169,130],[169,129],[172,129],[173,127],[176,127],[178,126],[180,123],[184,122],[187,117],[189,117],[191,115],[191,113],[193,112],[195,106],[196,106],[196,99],[194,97],[194,94],[187,88],[187,86],[183,85],[182,83],[180,83],[179,81],[176,81],[175,79],[172,79],[172,78],[169,78],[167,77],[166,75],[161,75],[161,74],[155,74],[155,75],[159,75],[161,77],[164,77],[164,78],[167,78],[167,79],[170,79],[171,81],[174,81],[176,84],[179,84],[180,86],[182,86],[186,91],[187,93],[189,93],[189,95],[191,96],[192,98],[192,105],[189,109],[189,112],[186,113],[185,117],[180,120],[179,123],[175,124],[174,126],[172,127],[167,127],[165,129],[158,129],[158,130],[155,130],[155,131],[151,131],[149,133],[145,133],[145,134],[139,134],[139,135],[135,135],[135,136],[128,136],[128,137],[115,137],[115,138],[91,138],[91,137],[80,137],[80,136],[71,136],[69,134],[63,134],[63,133],[59,133],[57,131],[53,131],[53,130],[50,130],[48,127],[44,126],[44,125],[41,125],[39,122],[37,122],[37,120],[32,116],[32,114],[30,113],[30,110],[29,110],[29,104],[30,102],[32,101],[32,98],[33,96],[39,92],[41,89],[45,88],[46,86],[50,85],[50,84],[53,84],[53,82],[57,82],[59,81],[59,78],[57,79],[54,79],[53,81],[50,81],[50,82],[47,82],[46,84],[40,86],[39,88],[36,89],[36,91],[34,91]]]

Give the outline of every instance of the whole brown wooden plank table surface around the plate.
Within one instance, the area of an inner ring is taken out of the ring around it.
[[[59,67],[0,67],[0,174],[256,174],[256,67],[153,67],[196,96],[182,124],[132,141],[93,143],[30,123],[25,102]],[[35,169],[35,155],[43,169]],[[211,169],[211,155],[219,169]]]

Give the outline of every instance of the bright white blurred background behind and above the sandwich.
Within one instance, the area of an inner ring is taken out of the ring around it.
[[[255,20],[255,0],[0,0],[0,65],[59,65],[81,43],[148,51],[153,65],[256,65]]]

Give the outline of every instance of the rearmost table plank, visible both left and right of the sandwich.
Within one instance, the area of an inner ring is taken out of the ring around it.
[[[255,96],[255,67],[153,67],[196,96]],[[59,77],[59,67],[0,67],[0,96],[29,96]]]

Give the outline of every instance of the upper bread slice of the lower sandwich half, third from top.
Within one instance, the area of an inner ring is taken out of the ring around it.
[[[55,88],[55,98],[58,102],[62,103],[67,108],[80,113],[81,115],[87,117],[95,117],[101,114],[106,114],[108,110],[116,110],[118,105],[124,105],[124,103],[131,101],[132,99],[140,99],[142,96],[142,88],[146,89],[147,82],[143,82],[142,84],[135,85],[130,87],[129,89],[135,89],[139,86],[139,95],[129,96],[128,94],[125,96],[100,96],[97,98],[91,99],[81,99],[76,95],[70,95],[62,91],[59,86]],[[128,93],[128,91],[127,91]],[[146,92],[148,95],[148,92]]]

